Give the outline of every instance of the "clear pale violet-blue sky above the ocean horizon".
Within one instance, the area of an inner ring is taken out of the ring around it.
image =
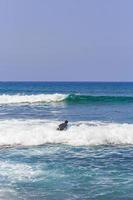
[[[0,81],[133,81],[133,1],[0,0]]]

